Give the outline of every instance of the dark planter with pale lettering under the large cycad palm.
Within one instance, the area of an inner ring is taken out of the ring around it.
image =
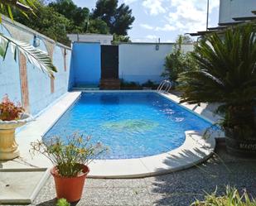
[[[230,130],[225,131],[225,143],[229,154],[240,157],[256,157],[256,138],[246,139],[236,137]]]

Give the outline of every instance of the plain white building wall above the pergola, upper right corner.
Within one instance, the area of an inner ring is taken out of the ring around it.
[[[234,17],[255,17],[256,0],[220,0],[219,23],[235,22]]]

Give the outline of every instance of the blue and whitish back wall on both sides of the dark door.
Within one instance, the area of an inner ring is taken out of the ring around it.
[[[128,43],[118,47],[119,79],[143,84],[148,79],[159,83],[167,54],[172,43]],[[192,50],[183,45],[182,50]],[[72,47],[70,88],[99,85],[101,75],[101,47],[99,43],[75,42]]]

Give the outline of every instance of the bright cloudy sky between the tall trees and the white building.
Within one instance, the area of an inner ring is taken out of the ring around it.
[[[169,38],[177,33],[189,33],[196,31],[205,31],[206,29],[206,3],[207,0],[122,0],[123,2],[137,2],[147,12],[154,16],[154,21],[146,16],[142,19],[139,29],[151,31],[151,35],[137,38],[137,41],[157,41],[157,36],[163,36],[166,33]],[[210,0],[210,18],[209,26],[215,26],[218,21],[216,10],[220,0]],[[157,17],[156,17],[157,16]],[[157,23],[156,21],[157,20]],[[139,20],[138,20],[139,21]],[[153,33],[155,31],[155,34]],[[172,32],[171,32],[172,31]],[[173,40],[176,37],[173,36]],[[165,39],[163,37],[163,39]],[[170,38],[171,39],[171,38]],[[169,39],[169,41],[170,41]],[[173,41],[172,40],[172,41]]]

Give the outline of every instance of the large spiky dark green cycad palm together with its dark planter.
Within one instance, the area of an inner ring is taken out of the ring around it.
[[[205,36],[193,54],[198,70],[180,75],[181,103],[220,103],[227,150],[256,156],[256,34],[248,24]]]

